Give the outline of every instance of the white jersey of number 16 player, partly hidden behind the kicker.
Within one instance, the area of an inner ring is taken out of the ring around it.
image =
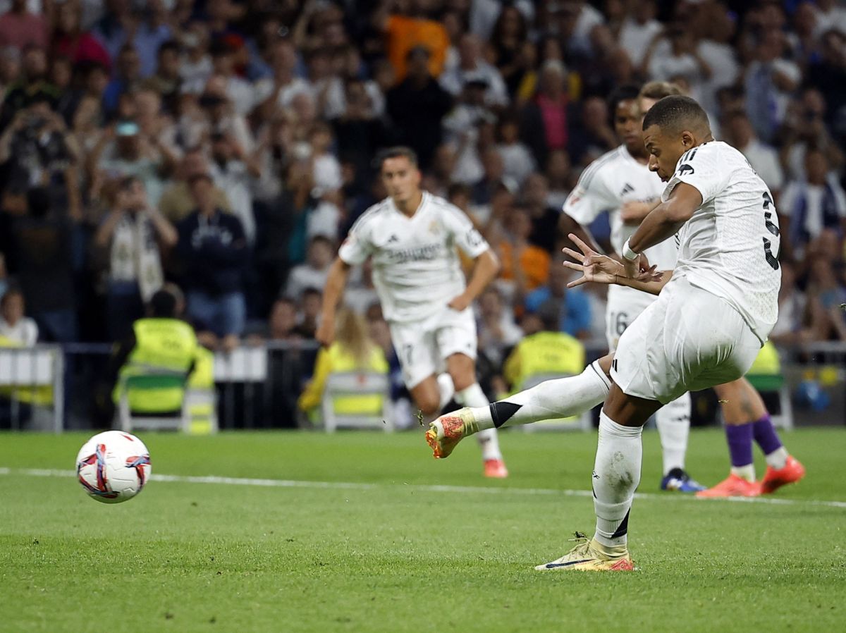
[[[626,239],[637,230],[637,226],[623,223],[620,209],[626,202],[658,201],[663,189],[656,173],[637,162],[625,146],[619,146],[585,168],[579,183],[567,196],[563,211],[585,226],[607,211],[611,221],[611,245],[619,253]],[[645,250],[645,255],[660,270],[669,270],[676,264],[678,249],[673,239],[667,239]]]

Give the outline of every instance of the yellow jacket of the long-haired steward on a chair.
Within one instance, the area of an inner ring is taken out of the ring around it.
[[[370,357],[364,364],[356,361],[349,350],[343,349],[338,343],[333,343],[328,349],[321,349],[317,353],[314,377],[300,394],[297,401],[298,408],[308,412],[320,405],[329,374],[355,371],[387,374],[388,366],[382,348],[374,345]],[[332,404],[340,415],[364,416],[370,413],[382,413],[383,398],[381,395],[338,396],[333,399]]]

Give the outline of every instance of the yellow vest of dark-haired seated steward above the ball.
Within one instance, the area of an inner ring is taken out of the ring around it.
[[[118,375],[112,397],[120,399],[120,385],[126,377],[157,373],[188,374],[200,358],[194,328],[179,319],[145,318],[133,324],[135,347]],[[163,387],[129,389],[129,409],[135,413],[168,413],[182,408],[185,389]]]

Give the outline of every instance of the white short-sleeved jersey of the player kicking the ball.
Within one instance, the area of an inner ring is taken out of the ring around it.
[[[743,154],[722,141],[684,152],[662,194],[690,184],[702,204],[678,232],[673,272],[727,300],[763,344],[778,316],[781,248],[772,195]]]

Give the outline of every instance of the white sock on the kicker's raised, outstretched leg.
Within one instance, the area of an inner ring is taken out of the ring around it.
[[[578,376],[547,380],[493,405],[473,409],[479,429],[515,427],[541,420],[578,416],[602,403],[611,380],[594,361]],[[493,416],[496,412],[497,421]]]

